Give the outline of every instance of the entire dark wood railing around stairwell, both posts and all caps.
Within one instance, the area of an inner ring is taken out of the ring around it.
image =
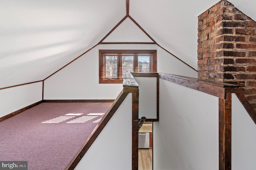
[[[101,122],[84,142],[76,156],[65,170],[73,170],[82,159],[94,140],[106,126],[114,112],[124,101],[128,93],[132,93],[132,170],[138,170],[138,90],[139,86],[134,79],[136,76],[157,77],[157,105],[159,106],[159,79],[168,80],[194,90],[198,90],[219,98],[219,170],[231,170],[231,94],[235,93],[240,101],[244,101],[243,90],[237,85],[222,82],[211,82],[186,76],[177,76],[164,73],[127,73],[124,76],[123,90],[114,101],[112,107],[106,112]],[[243,103],[243,102],[242,102]],[[245,105],[245,104],[244,104]],[[247,109],[246,109],[247,110]],[[253,110],[254,111],[254,110]],[[254,111],[255,112],[255,111]],[[256,114],[250,114],[256,120]]]

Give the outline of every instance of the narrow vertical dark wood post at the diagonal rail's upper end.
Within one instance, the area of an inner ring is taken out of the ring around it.
[[[132,170],[138,170],[139,89],[132,93]]]

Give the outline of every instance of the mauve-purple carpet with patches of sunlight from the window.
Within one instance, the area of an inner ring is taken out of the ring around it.
[[[64,170],[112,103],[42,103],[0,122],[0,161]]]

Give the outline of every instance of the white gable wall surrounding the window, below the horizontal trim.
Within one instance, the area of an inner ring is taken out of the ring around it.
[[[158,72],[197,76],[184,63],[149,44],[105,44],[98,45],[50,78],[44,81],[44,99],[115,99],[122,84],[99,84],[99,49],[158,50]]]

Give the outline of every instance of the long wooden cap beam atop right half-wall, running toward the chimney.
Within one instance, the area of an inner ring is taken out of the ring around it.
[[[227,84],[222,82],[212,82],[208,80],[201,80],[198,78],[190,78],[185,76],[177,76],[172,74],[159,73],[159,78],[211,94],[218,98],[226,99],[227,88],[239,88],[240,86],[234,84]]]

